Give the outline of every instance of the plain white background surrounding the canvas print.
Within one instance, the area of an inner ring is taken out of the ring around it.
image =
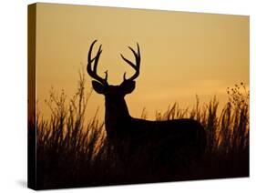
[[[47,1],[78,5],[107,5],[203,13],[251,15],[251,177],[172,182],[108,188],[77,188],[76,192],[252,192],[255,187],[255,46],[256,4],[253,0],[84,0]],[[26,188],[26,5],[9,0],[0,5],[0,192],[29,192]],[[254,112],[253,112],[254,111]],[[254,118],[254,119],[253,119]],[[71,189],[54,190],[68,192]]]

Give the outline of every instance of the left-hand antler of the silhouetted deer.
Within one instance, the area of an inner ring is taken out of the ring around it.
[[[101,50],[102,45],[99,46],[99,48],[97,50],[97,55],[93,59],[91,59],[92,49],[96,42],[97,42],[97,40],[93,41],[93,43],[91,44],[89,51],[88,51],[87,73],[89,76],[93,77],[98,82],[102,83],[103,85],[108,85],[108,70],[105,72],[105,78],[102,78],[97,75],[97,62],[98,62],[99,56],[102,52],[102,50]],[[93,69],[91,66],[92,62],[94,62]]]

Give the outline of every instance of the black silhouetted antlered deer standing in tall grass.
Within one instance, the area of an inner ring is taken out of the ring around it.
[[[97,40],[93,41],[88,50],[87,74],[93,78],[92,87],[97,94],[105,96],[107,139],[120,160],[125,161],[133,155],[139,159],[139,155],[143,157],[148,154],[150,159],[159,160],[154,164],[162,164],[164,160],[169,162],[177,156],[187,159],[191,155],[200,157],[205,149],[206,134],[199,121],[190,118],[152,121],[130,116],[125,96],[133,92],[136,86],[135,79],[139,76],[141,57],[138,43],[137,52],[128,46],[135,56],[135,63],[120,54],[135,73],[127,78],[125,72],[122,83],[113,86],[108,85],[108,71],[105,72],[105,77],[97,74],[102,45],[98,47],[96,56],[92,57],[96,42]]]

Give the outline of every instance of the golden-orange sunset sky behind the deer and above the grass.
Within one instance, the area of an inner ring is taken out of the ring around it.
[[[249,16],[213,15],[85,5],[37,4],[36,96],[42,113],[49,90],[65,90],[73,96],[78,70],[87,65],[93,40],[103,45],[98,73],[108,70],[108,83],[121,83],[124,72],[134,72],[120,53],[134,61],[128,46],[141,52],[136,89],[126,96],[133,117],[143,107],[148,119],[179,102],[192,107],[196,95],[203,104],[217,96],[227,101],[226,88],[244,82],[249,86]],[[96,52],[94,52],[96,53]],[[91,78],[87,76],[87,88]],[[104,97],[93,93],[87,111],[92,115]]]

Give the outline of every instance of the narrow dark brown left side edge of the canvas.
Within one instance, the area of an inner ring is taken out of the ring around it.
[[[27,188],[36,188],[36,4],[27,5]]]

